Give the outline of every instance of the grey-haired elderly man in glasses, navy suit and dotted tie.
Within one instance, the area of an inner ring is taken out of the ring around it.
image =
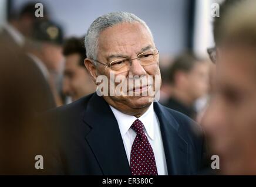
[[[48,123],[58,124],[60,133],[55,149],[60,162],[48,160],[55,172],[196,174],[203,155],[200,129],[187,116],[153,102],[161,83],[159,51],[146,23],[126,12],[100,16],[90,25],[85,46],[90,77],[97,85],[102,83],[98,78],[105,77],[107,94],[98,88],[96,93],[48,113]],[[150,76],[153,81],[143,83]],[[124,77],[124,82],[139,80],[139,84],[129,84],[129,89],[123,86],[120,94],[112,94],[119,85],[117,77]]]

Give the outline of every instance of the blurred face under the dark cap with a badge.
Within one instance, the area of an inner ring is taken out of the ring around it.
[[[60,72],[64,62],[62,47],[55,44],[44,43],[42,52],[44,58],[43,62],[46,64],[48,70]]]

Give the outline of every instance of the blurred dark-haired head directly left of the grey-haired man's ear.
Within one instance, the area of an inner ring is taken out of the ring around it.
[[[70,38],[63,47],[65,70],[63,93],[75,101],[89,93],[95,92],[96,85],[90,78],[83,61],[86,58],[82,39]]]

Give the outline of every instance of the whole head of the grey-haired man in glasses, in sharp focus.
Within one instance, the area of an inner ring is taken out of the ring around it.
[[[130,90],[139,93],[138,96],[128,94],[103,96],[110,105],[130,115],[137,115],[150,106],[154,96],[145,96],[142,92],[154,88],[154,81],[142,84],[140,79],[149,75],[152,75],[153,79],[156,75],[160,77],[159,55],[149,27],[143,20],[125,12],[100,16],[87,31],[85,46],[87,50],[85,65],[95,82],[99,75],[105,75],[109,83],[119,84],[110,79],[110,72],[114,73],[115,78],[124,77],[127,85],[129,80],[139,79],[140,85],[133,86]],[[138,59],[136,57],[139,54],[143,55]],[[129,61],[127,58],[134,59]],[[150,63],[147,61],[142,64],[145,58],[150,59]],[[110,67],[110,64],[114,65]],[[126,68],[118,70],[114,68],[120,66]],[[127,92],[123,91],[123,93]]]

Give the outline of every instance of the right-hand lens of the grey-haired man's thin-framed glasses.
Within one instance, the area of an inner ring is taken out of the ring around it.
[[[157,56],[159,51],[149,50],[142,54],[139,54],[138,59],[142,65],[151,65],[157,62]]]

